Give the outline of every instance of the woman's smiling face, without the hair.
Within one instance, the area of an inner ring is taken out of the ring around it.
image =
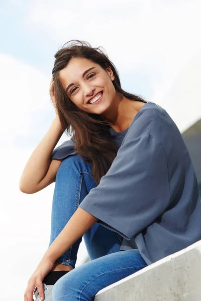
[[[110,67],[105,70],[88,59],[74,58],[59,71],[59,78],[71,101],[87,113],[102,114],[115,99]]]

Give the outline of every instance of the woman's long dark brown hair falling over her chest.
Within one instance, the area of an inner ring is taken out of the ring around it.
[[[77,45],[79,44],[79,45]],[[52,70],[54,81],[55,104],[62,128],[74,136],[75,151],[83,160],[92,164],[92,177],[98,185],[100,179],[110,169],[118,147],[110,134],[110,123],[101,119],[98,114],[86,113],[70,100],[59,80],[59,71],[65,68],[72,58],[86,58],[99,64],[103,69],[111,67],[115,79],[116,91],[131,100],[145,102],[140,96],[130,94],[121,88],[118,71],[102,50],[93,48],[85,41],[71,40],[55,54]]]

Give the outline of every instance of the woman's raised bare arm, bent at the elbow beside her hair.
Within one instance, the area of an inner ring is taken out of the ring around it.
[[[19,185],[22,192],[35,193],[54,182],[61,160],[51,160],[51,155],[62,133],[59,117],[56,116],[24,168]]]

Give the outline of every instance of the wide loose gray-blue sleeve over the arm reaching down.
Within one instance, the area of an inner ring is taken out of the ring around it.
[[[169,200],[162,145],[150,135],[132,137],[128,132],[108,173],[79,207],[130,240],[165,211]]]

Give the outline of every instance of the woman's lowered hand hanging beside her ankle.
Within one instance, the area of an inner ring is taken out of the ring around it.
[[[42,258],[35,272],[28,281],[24,294],[24,301],[33,301],[33,292],[37,286],[41,300],[44,300],[43,279],[52,270],[54,262],[47,258]]]

